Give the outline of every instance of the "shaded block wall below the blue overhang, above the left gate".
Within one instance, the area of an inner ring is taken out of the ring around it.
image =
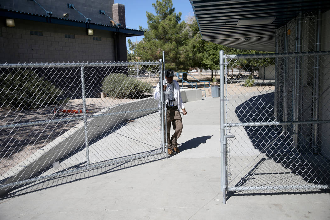
[[[0,30],[0,63],[115,60],[114,32],[94,30],[94,35],[88,36],[86,28],[20,19],[15,19],[15,27],[0,23]],[[42,32],[42,36],[31,35],[30,31]],[[75,38],[65,38],[66,34]]]

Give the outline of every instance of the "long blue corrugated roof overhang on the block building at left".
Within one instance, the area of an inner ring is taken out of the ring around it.
[[[69,25],[69,26],[75,26],[75,27],[88,27],[91,29],[113,31],[113,32],[119,32],[119,33],[125,33],[126,37],[144,35],[144,31],[135,30],[135,29],[121,28],[121,27],[117,28],[116,26],[112,26],[112,25],[95,24],[92,22],[87,23],[86,21],[72,20],[72,19],[61,18],[61,17],[51,17],[51,16],[48,17],[45,15],[37,15],[37,14],[5,10],[5,9],[0,9],[0,16],[8,17],[8,18],[24,19],[24,20],[33,20],[33,21],[39,21],[39,22],[47,22],[47,23],[53,23],[53,24]]]

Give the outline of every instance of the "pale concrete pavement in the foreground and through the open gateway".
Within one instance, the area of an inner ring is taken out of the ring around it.
[[[322,191],[237,194],[222,204],[219,98],[185,106],[179,154],[21,187],[0,200],[0,219],[330,219]]]

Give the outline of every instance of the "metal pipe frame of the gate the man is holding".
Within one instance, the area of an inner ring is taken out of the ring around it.
[[[35,126],[35,125],[48,125],[51,123],[63,123],[63,122],[69,122],[69,121],[83,121],[83,126],[84,126],[84,136],[82,138],[84,138],[84,146],[85,146],[85,150],[86,150],[86,161],[85,161],[85,166],[81,166],[80,168],[72,168],[72,169],[67,169],[65,171],[61,171],[61,172],[56,172],[56,173],[52,173],[52,174],[46,174],[46,175],[35,175],[32,174],[30,175],[30,171],[22,172],[22,176],[18,176],[18,175],[13,175],[11,177],[7,177],[5,179],[3,179],[0,182],[0,194],[3,194],[5,192],[7,192],[8,190],[10,190],[13,187],[16,186],[21,186],[21,185],[25,185],[25,184],[29,184],[29,183],[33,183],[33,182],[37,182],[40,180],[46,180],[46,179],[52,179],[55,177],[60,177],[60,176],[64,176],[64,175],[68,175],[68,174],[72,174],[72,173],[78,173],[78,172],[84,172],[84,171],[88,171],[88,170],[94,170],[94,169],[98,169],[98,168],[102,168],[102,167],[106,167],[106,166],[110,166],[110,165],[115,165],[115,164],[119,164],[119,163],[123,163],[123,162],[128,162],[128,161],[133,161],[135,159],[140,159],[140,158],[145,158],[145,157],[149,157],[149,156],[153,156],[153,155],[157,155],[157,154],[163,154],[163,153],[167,153],[166,150],[166,144],[165,144],[165,136],[164,136],[164,131],[166,131],[166,129],[164,128],[164,120],[162,120],[162,118],[166,117],[166,114],[164,114],[164,108],[153,108],[153,109],[138,109],[138,110],[124,110],[121,112],[114,112],[114,113],[100,113],[100,114],[93,114],[93,115],[87,115],[86,112],[86,94],[85,94],[85,75],[84,75],[84,70],[85,68],[93,68],[93,67],[120,67],[120,66],[133,66],[133,65],[140,65],[140,66],[148,66],[148,65],[154,65],[154,66],[158,66],[159,69],[159,81],[162,82],[161,79],[163,79],[163,72],[164,72],[164,62],[160,59],[158,62],[133,62],[133,63],[128,63],[128,62],[109,62],[109,63],[35,63],[35,64],[0,64],[0,68],[65,68],[65,67],[70,67],[70,68],[80,68],[80,74],[81,74],[81,95],[82,95],[82,102],[83,102],[83,116],[79,116],[79,117],[71,117],[71,118],[61,118],[61,119],[51,119],[51,120],[43,120],[43,121],[34,121],[34,122],[24,122],[24,123],[10,123],[10,124],[5,124],[5,125],[1,125],[0,129],[8,129],[8,128],[22,128],[22,127],[29,127],[29,126]],[[160,87],[162,88],[162,87]],[[161,97],[163,97],[163,90],[160,89],[160,92],[162,94]],[[160,102],[163,103],[163,100],[160,100]],[[157,111],[160,110],[161,113],[161,117],[160,117],[160,133],[161,133],[161,137],[159,137],[160,140],[160,147],[159,149],[156,150],[151,150],[151,151],[146,151],[146,152],[140,152],[140,153],[136,153],[136,154],[132,154],[126,157],[119,157],[119,158],[114,158],[114,159],[110,159],[108,161],[101,161],[99,163],[96,164],[90,164],[89,162],[89,138],[88,138],[88,125],[87,125],[87,120],[88,119],[92,119],[92,118],[99,118],[102,116],[116,116],[116,114],[125,114],[125,113],[135,113],[135,112],[141,112],[141,111],[145,111],[145,112],[152,112],[152,111]],[[48,164],[45,164],[45,166],[48,166]],[[23,176],[24,175],[24,176]],[[25,176],[26,175],[26,176]]]

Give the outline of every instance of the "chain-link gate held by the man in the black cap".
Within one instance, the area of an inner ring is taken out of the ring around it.
[[[162,65],[0,64],[0,194],[165,153]]]

